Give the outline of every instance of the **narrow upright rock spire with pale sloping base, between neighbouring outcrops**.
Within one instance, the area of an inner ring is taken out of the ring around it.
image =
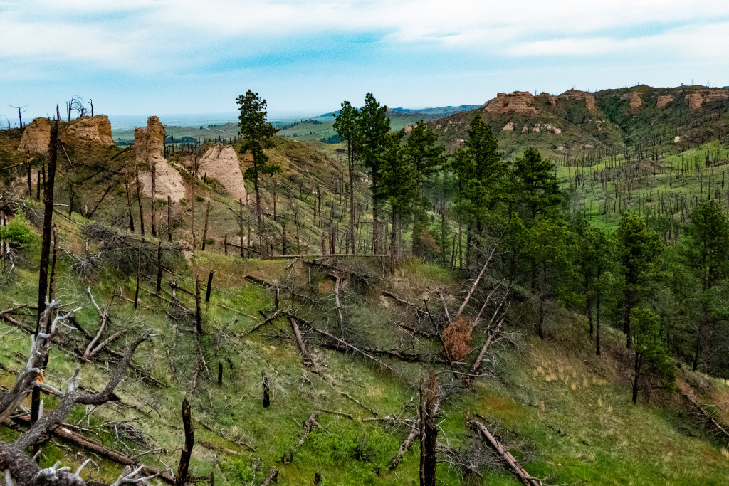
[[[142,171],[139,179],[144,195],[152,195],[152,164],[155,166],[155,198],[177,203],[185,196],[182,176],[162,156],[165,128],[157,117],[147,118],[146,127],[134,129],[134,154]],[[149,172],[148,172],[149,171]]]

